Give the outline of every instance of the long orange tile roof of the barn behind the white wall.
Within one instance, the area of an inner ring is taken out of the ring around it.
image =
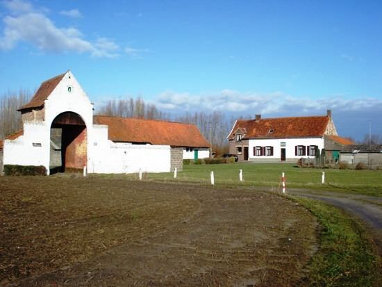
[[[94,124],[106,124],[108,138],[114,142],[146,142],[151,145],[173,147],[210,147],[194,124],[103,115],[95,115]]]

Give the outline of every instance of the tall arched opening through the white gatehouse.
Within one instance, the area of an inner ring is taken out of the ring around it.
[[[51,124],[50,167],[53,172],[82,170],[88,162],[85,122],[72,112],[60,113]]]

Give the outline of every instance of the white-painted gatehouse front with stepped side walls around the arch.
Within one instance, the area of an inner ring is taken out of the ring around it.
[[[108,140],[108,126],[93,124],[93,104],[69,71],[44,101],[44,120],[24,122],[24,135],[4,141],[4,165],[43,165],[49,170],[51,124],[64,112],[76,113],[85,122],[89,173],[170,172],[169,145]]]

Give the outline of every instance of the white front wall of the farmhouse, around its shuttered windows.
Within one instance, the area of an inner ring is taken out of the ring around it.
[[[285,147],[281,147],[281,142],[285,142]],[[281,161],[281,149],[285,148],[286,160],[297,160],[298,158],[314,158],[314,156],[296,156],[296,145],[317,145],[321,150],[324,148],[324,138],[288,138],[288,139],[254,139],[249,140],[249,161]],[[273,156],[255,156],[254,147],[273,147]]]

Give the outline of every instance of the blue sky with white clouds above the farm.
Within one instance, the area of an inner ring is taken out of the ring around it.
[[[0,97],[70,69],[95,108],[325,115],[382,135],[382,1],[0,0]]]

